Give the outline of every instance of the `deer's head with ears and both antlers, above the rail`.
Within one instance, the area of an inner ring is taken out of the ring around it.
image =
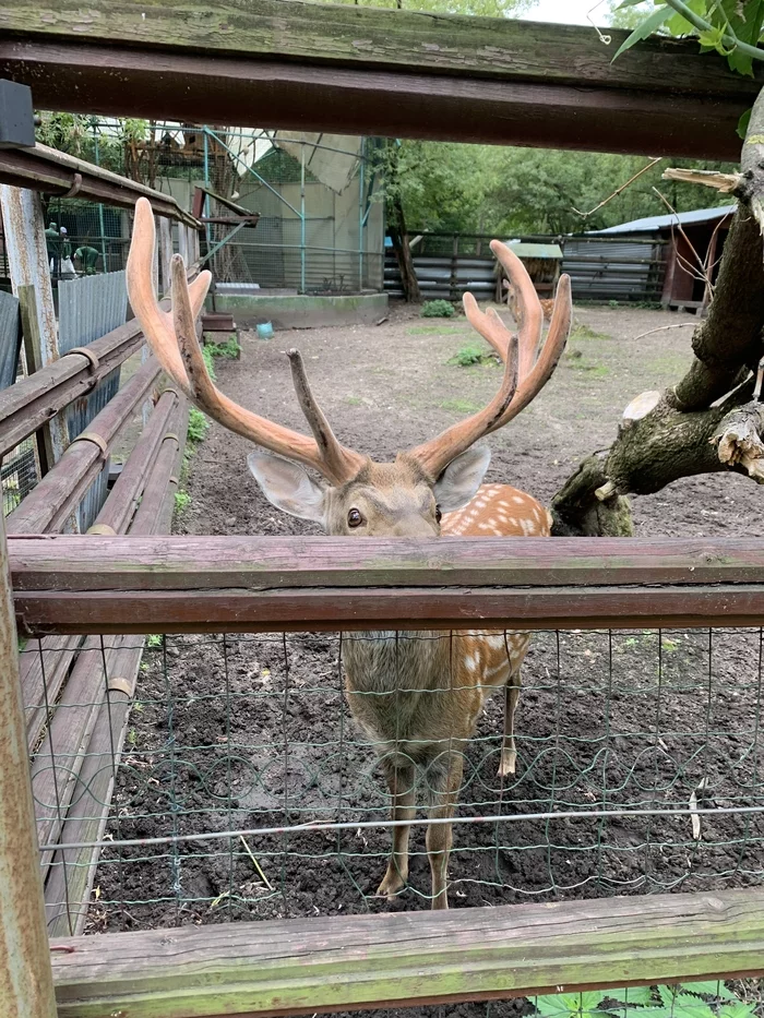
[[[195,331],[211,275],[202,272],[189,285],[182,258],[174,255],[172,311],[162,311],[152,282],[154,242],[151,204],[142,197],[135,206],[128,258],[128,294],[157,360],[201,410],[259,446],[248,462],[265,496],[293,516],[322,524],[331,535],[439,535],[441,515],[469,502],[488,469],[490,453],[480,440],[516,417],[544,387],[570,331],[569,277],[560,278],[542,342],[544,315],[533,283],[520,259],[492,241],[491,250],[523,306],[520,333],[512,335],[496,311],[480,311],[470,294],[464,297],[464,309],[473,327],[504,362],[499,391],[484,409],[437,438],[398,453],[393,463],[375,463],[337,441],[313,397],[297,350],[287,356],[312,438],[266,420],[220,393],[206,371]]]

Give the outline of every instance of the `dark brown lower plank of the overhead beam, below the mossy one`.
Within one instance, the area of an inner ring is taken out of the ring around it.
[[[564,52],[550,39],[538,59],[544,63],[550,51]],[[299,65],[178,53],[171,44],[164,51],[141,52],[127,46],[0,40],[0,74],[31,85],[41,106],[58,109],[63,103],[73,112],[258,127],[267,109],[274,122],[297,131],[735,160],[740,156],[736,127],[753,101],[744,91],[676,95],[478,80],[462,72],[427,75],[419,62],[410,71]],[[643,83],[649,82],[645,72]]]

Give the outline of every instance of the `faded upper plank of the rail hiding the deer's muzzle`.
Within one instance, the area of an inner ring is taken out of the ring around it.
[[[764,583],[764,543],[704,538],[9,538],[29,590]]]

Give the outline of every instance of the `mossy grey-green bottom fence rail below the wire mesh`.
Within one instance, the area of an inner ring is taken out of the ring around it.
[[[764,894],[715,891],[57,939],[59,1018],[222,1018],[764,972]]]

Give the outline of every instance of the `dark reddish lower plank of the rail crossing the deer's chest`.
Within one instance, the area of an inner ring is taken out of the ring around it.
[[[764,624],[764,585],[20,591],[20,632],[693,628]]]

